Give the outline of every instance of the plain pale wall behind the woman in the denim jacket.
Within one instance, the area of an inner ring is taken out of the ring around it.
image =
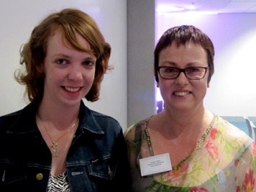
[[[0,1],[0,115],[22,109],[23,86],[14,81],[19,68],[19,48],[32,29],[47,14],[66,7],[81,9],[93,17],[106,41],[111,44],[110,64],[100,100],[86,104],[93,110],[117,119],[127,127],[127,1],[126,0],[1,0]]]

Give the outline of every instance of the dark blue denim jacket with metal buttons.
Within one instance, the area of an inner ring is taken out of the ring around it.
[[[37,128],[37,105],[0,117],[0,191],[47,191],[52,155]],[[65,116],[63,116],[65,118]],[[73,192],[131,191],[127,148],[115,119],[81,101],[66,157]]]

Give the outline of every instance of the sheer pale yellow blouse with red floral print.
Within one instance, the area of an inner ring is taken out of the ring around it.
[[[146,120],[125,132],[134,192],[256,191],[256,145],[242,130],[216,116],[206,139],[178,170],[141,176],[139,160],[149,151]]]

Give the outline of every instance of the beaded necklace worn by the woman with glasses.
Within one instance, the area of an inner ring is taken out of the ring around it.
[[[151,118],[151,117],[150,117]],[[146,124],[146,128],[145,128],[145,134],[146,134],[146,140],[147,140],[147,145],[150,148],[150,156],[154,156],[154,152],[152,150],[152,144],[151,144],[151,140],[150,140],[150,133],[147,130],[147,124],[150,121],[150,118],[148,118],[145,122]],[[216,119],[216,115],[214,114],[214,118],[211,120],[211,124],[209,125],[209,127],[206,129],[206,132],[204,132],[204,134],[202,135],[202,137],[200,138],[200,140],[198,140],[198,142],[196,142],[196,146],[193,148],[193,150],[190,152],[190,154],[188,156],[186,156],[185,158],[183,158],[183,160],[180,160],[180,163],[178,163],[178,165],[172,167],[173,170],[178,170],[183,163],[188,160],[189,157],[191,157],[191,155],[198,150],[198,148],[200,147],[200,145],[206,140],[206,136],[209,134],[209,132],[211,131],[211,128],[214,126],[214,122]]]

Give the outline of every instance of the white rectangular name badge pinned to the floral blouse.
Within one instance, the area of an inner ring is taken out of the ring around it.
[[[142,176],[169,170],[172,170],[169,153],[140,159],[140,172]]]

